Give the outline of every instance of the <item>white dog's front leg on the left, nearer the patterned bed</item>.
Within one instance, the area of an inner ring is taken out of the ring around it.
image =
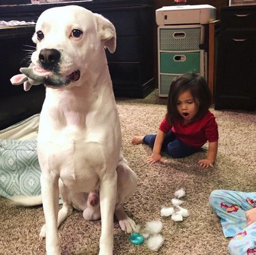
[[[46,224],[46,254],[60,255],[57,236],[57,215],[59,200],[59,177],[51,172],[41,175],[42,203]]]

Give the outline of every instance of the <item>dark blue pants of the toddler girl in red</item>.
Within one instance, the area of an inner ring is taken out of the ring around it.
[[[154,147],[155,140],[156,134],[148,134],[143,138],[143,142],[147,145],[150,145],[152,148]],[[179,158],[191,155],[199,151],[199,149],[190,147],[184,142],[178,140],[175,134],[170,130],[162,142],[161,151],[164,151],[171,157]]]

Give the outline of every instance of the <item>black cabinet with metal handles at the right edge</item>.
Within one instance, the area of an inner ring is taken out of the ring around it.
[[[256,109],[256,5],[221,8],[215,108]]]

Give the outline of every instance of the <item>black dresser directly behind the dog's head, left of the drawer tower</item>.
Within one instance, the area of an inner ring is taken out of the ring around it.
[[[145,97],[154,89],[153,3],[153,0],[96,0],[0,5],[0,20],[36,21],[44,10],[61,5],[81,5],[102,14],[117,31],[117,50],[113,55],[107,53],[115,95]]]

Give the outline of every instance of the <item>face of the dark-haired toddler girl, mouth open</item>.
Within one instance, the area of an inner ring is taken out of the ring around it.
[[[198,110],[198,104],[191,95],[190,91],[184,91],[177,97],[177,112],[184,119],[184,123],[188,123],[195,117]]]

